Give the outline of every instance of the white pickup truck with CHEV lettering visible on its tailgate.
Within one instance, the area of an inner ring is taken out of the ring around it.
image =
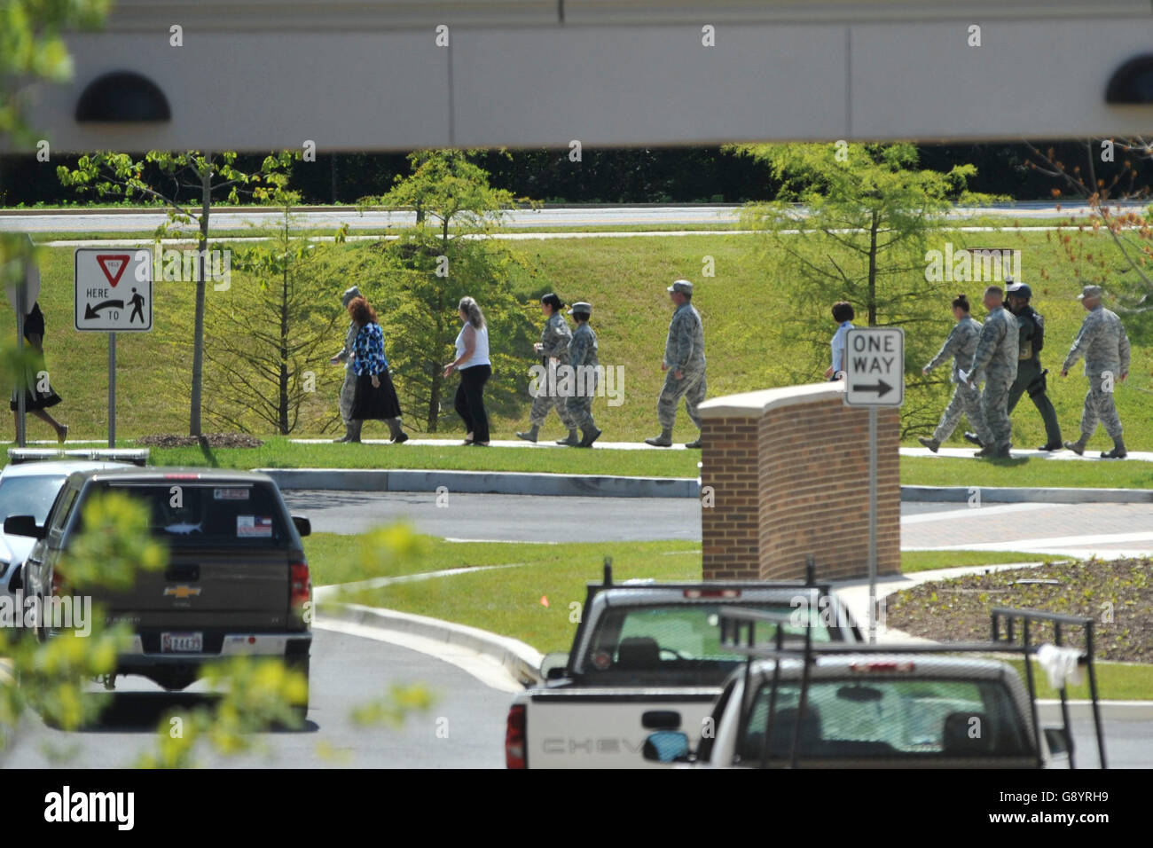
[[[722,607],[786,613],[785,635],[859,643],[860,631],[828,586],[806,583],[589,584],[568,653],[549,654],[543,684],[508,711],[510,768],[660,767],[642,757],[654,730],[695,741],[730,671],[744,658],[721,646]]]

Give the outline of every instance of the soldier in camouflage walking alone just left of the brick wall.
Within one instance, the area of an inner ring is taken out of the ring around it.
[[[665,291],[677,310],[669,323],[664,361],[661,363],[661,370],[665,372],[664,387],[656,402],[661,435],[645,440],[646,444],[657,448],[672,446],[672,426],[677,421],[677,404],[680,399],[685,398],[685,411],[698,430],[701,429],[701,417],[696,414],[696,407],[704,400],[704,327],[701,324],[700,313],[689,302],[693,299],[693,284],[687,279],[678,279]],[[700,448],[700,434],[685,446]]]

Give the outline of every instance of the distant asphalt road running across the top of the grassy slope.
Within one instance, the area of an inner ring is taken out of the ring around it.
[[[1087,215],[1082,205],[1057,208],[1047,201],[1024,201],[1013,205],[995,204],[974,209],[958,209],[950,213],[954,219],[973,216],[1016,216],[1060,220],[1071,215]],[[301,212],[300,225],[336,228],[347,223],[351,230],[377,230],[386,226],[410,226],[412,212],[364,212],[341,209],[321,212]],[[527,230],[570,226],[619,226],[619,225],[700,225],[734,224],[740,218],[736,205],[685,205],[685,207],[585,207],[549,208],[538,210],[513,210],[508,212],[507,226]],[[151,231],[167,220],[164,212],[110,212],[95,210],[84,213],[5,213],[0,215],[0,231],[17,232],[140,232]],[[280,222],[276,211],[246,210],[243,212],[218,211],[212,213],[213,231],[246,230],[251,224],[273,226]]]

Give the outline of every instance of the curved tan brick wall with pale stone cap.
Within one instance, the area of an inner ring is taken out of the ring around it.
[[[713,398],[701,407],[704,579],[868,575],[868,412],[843,383]],[[877,573],[900,570],[899,410],[877,413]],[[708,506],[711,498],[711,506]]]

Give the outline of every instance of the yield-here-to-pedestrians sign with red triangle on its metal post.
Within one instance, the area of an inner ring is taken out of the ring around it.
[[[116,333],[152,329],[152,252],[78,247],[73,323],[108,333],[108,446],[116,446]]]

